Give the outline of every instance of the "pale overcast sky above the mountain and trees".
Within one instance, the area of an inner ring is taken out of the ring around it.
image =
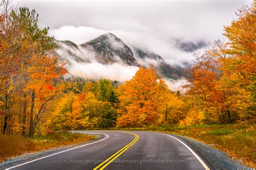
[[[56,39],[82,44],[112,32],[128,45],[177,63],[192,60],[196,50],[203,50],[197,48],[221,38],[223,26],[235,19],[235,11],[253,1],[14,2],[36,9],[39,25],[49,26]],[[184,43],[192,49],[184,49]]]

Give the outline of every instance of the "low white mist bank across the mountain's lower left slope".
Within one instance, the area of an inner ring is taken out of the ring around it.
[[[97,62],[96,53],[90,47],[68,46],[65,42],[58,42],[56,52],[69,63],[69,73],[74,76],[89,79],[110,79],[124,82],[132,79],[137,70],[136,66],[127,66],[120,62],[103,65]],[[88,49],[89,48],[89,49]]]

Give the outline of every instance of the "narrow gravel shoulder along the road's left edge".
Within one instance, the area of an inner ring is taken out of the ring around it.
[[[57,148],[51,148],[49,150],[21,154],[21,155],[19,155],[17,157],[11,158],[11,159],[9,159],[7,161],[0,162],[0,169],[4,165],[12,164],[12,163],[15,163],[17,161],[29,160],[29,159],[44,157],[45,155],[48,155],[48,154],[53,154],[53,153],[56,153],[56,152],[59,152],[59,151],[63,151],[63,150],[66,150],[66,149],[69,149],[69,148],[72,148],[72,147],[79,146],[79,145],[84,145],[84,144],[87,144],[87,143],[92,143],[93,141],[96,141],[96,140],[99,140],[99,139],[103,138],[102,134],[93,134],[93,136],[96,136],[96,138],[92,139],[92,140],[89,140],[89,141],[86,141],[85,143],[66,145],[66,146],[61,146],[61,147],[57,147]]]

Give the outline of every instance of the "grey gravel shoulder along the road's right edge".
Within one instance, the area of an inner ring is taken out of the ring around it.
[[[214,169],[252,169],[245,165],[240,164],[240,162],[235,161],[228,157],[226,152],[217,150],[212,148],[200,141],[180,136],[177,134],[171,134],[172,136],[178,137],[181,140],[185,141],[185,143],[189,144],[193,147],[195,151],[197,151]]]

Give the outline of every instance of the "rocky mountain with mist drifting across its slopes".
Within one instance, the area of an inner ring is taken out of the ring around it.
[[[71,41],[56,41],[56,52],[70,65],[75,62],[98,62],[103,65],[119,63],[127,66],[153,66],[157,72],[166,78],[180,79],[184,75],[183,68],[171,66],[153,52],[139,47],[127,46],[112,33],[105,33],[95,39],[76,45]]]

